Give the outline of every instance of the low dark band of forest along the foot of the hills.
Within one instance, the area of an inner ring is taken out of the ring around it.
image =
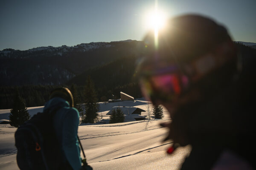
[[[76,104],[84,103],[85,100],[85,85],[62,85],[67,87],[72,92]],[[43,106],[49,100],[49,94],[54,88],[62,87],[52,85],[27,85],[27,86],[0,86],[0,109],[10,109],[14,104],[16,91],[19,91],[20,96],[24,99],[26,107]],[[120,97],[120,91],[134,96],[134,98],[141,97],[140,87],[138,83],[129,83],[127,85],[117,85],[110,88],[95,88],[96,96],[99,102],[106,102],[108,99],[117,99]],[[113,95],[112,95],[113,94]]]

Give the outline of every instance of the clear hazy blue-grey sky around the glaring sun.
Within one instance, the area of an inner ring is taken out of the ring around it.
[[[0,50],[142,40],[155,0],[0,0]],[[158,0],[166,17],[199,13],[256,42],[256,0]]]

